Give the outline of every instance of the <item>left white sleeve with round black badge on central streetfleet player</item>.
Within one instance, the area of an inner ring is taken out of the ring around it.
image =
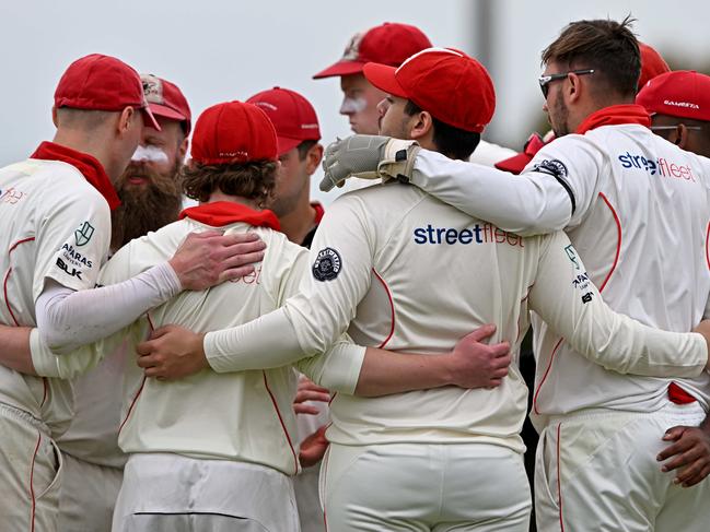
[[[216,371],[292,364],[328,351],[345,333],[370,287],[373,248],[366,216],[352,197],[344,199],[318,226],[296,295],[249,323],[207,333],[205,353]],[[347,357],[333,360],[352,364]],[[358,375],[361,364],[356,363]],[[352,377],[352,367],[344,371]]]

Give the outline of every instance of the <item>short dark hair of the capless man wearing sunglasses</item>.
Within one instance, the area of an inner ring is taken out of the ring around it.
[[[641,72],[639,43],[631,32],[633,20],[577,21],[543,51],[543,63],[567,70],[594,69],[590,83],[600,99],[630,99]]]

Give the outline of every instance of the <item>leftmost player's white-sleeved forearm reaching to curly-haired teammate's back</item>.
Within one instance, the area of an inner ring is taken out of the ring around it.
[[[58,354],[106,338],[182,289],[174,270],[159,264],[123,283],[74,292],[45,288],[37,298],[37,327]]]

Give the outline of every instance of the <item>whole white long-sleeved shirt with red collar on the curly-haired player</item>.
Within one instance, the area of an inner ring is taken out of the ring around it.
[[[202,222],[186,217],[132,240],[106,263],[102,284],[123,282],[172,257],[189,233],[216,228],[206,225],[206,220],[214,214],[214,220],[231,217],[229,224],[219,225],[225,232],[249,230],[265,241],[266,255],[256,264],[255,273],[207,291],[184,292],[80,352],[62,356],[37,352],[40,357],[33,352],[37,373],[71,377],[113,353],[121,342],[127,343],[127,353],[135,353],[136,345],[161,326],[179,324],[196,332],[234,327],[278,308],[296,293],[307,269],[307,252],[277,230],[252,226],[260,214],[224,202],[194,208],[191,212],[207,217],[200,218]],[[295,351],[293,362],[303,357]],[[121,450],[244,461],[295,474],[300,468],[299,442],[291,403],[298,376],[293,367],[273,363],[268,351],[260,353],[248,370],[217,374],[205,369],[171,382],[144,378],[142,369],[129,357],[125,364],[118,435]],[[300,360],[298,368],[318,383],[351,393],[363,358],[364,347],[344,339],[325,357]],[[341,363],[326,363],[330,359]]]

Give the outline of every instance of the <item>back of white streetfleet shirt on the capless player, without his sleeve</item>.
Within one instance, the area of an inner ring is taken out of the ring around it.
[[[598,179],[581,185],[590,187],[591,203],[578,205],[567,233],[605,302],[653,327],[691,330],[710,294],[710,162],[636,125],[602,127],[555,142],[568,154],[585,150],[596,159],[597,169],[590,174]],[[535,324],[543,368],[535,413],[597,406],[647,411],[666,401],[668,379],[607,371],[563,342],[558,346],[560,336],[543,322]],[[707,404],[707,375],[678,382]]]

